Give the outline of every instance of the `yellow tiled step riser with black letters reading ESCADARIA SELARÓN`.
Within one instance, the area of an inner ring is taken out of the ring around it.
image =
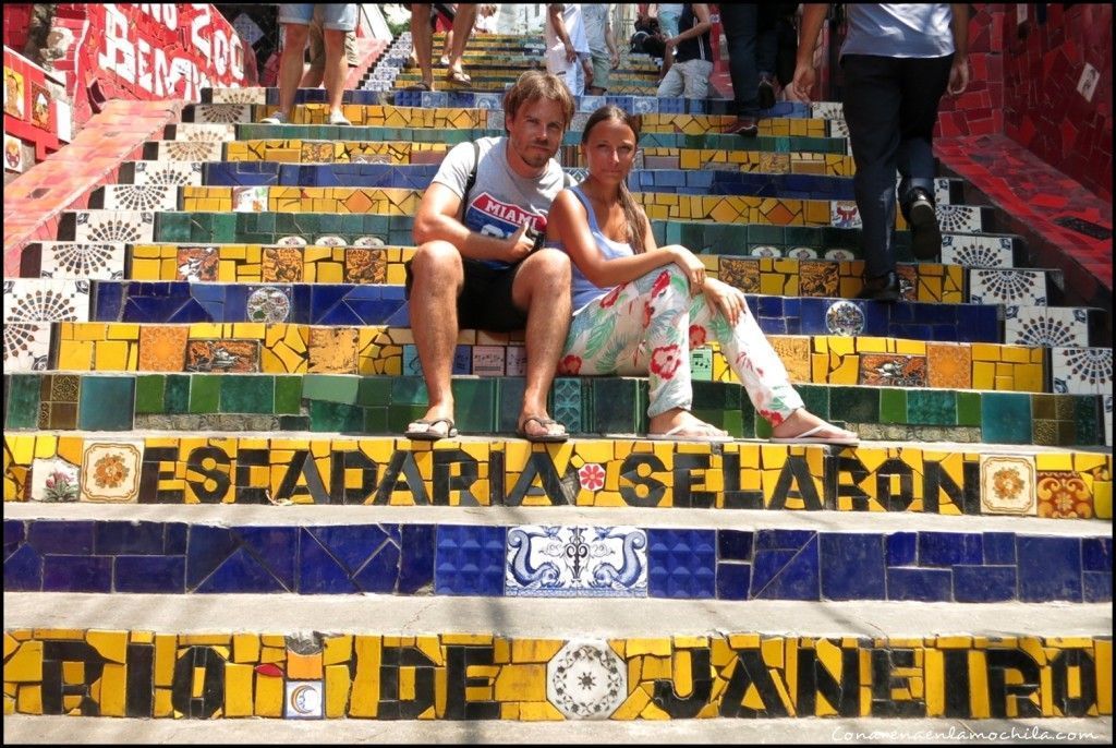
[[[1112,454],[1093,451],[8,433],[4,454],[6,501],[1112,518]]]

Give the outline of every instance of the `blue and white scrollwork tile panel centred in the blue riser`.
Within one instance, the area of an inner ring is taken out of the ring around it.
[[[647,534],[636,527],[521,525],[508,529],[507,553],[508,596],[647,596]]]

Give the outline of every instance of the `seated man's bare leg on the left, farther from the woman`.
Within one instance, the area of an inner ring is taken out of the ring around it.
[[[411,272],[411,332],[430,395],[425,418],[452,419],[450,382],[458,343],[458,295],[464,284],[461,253],[448,241],[429,241],[415,252]]]

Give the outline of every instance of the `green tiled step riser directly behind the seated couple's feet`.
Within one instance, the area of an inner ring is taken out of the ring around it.
[[[475,351],[475,357],[474,357]],[[466,434],[511,434],[518,422],[523,349],[491,372],[493,348],[459,346],[453,381],[458,428]],[[377,380],[268,374],[6,374],[4,428],[12,431],[249,431],[393,434],[426,402],[414,346],[405,374]],[[482,365],[485,364],[487,366]],[[696,411],[734,437],[770,426],[742,389],[711,382],[694,355]],[[479,380],[463,378],[474,370]],[[508,377],[508,378],[504,378]],[[1091,447],[1105,441],[1101,395],[954,392],[892,387],[797,387],[811,412],[856,428],[863,439]],[[550,410],[576,435],[646,433],[647,384],[639,380],[561,378]],[[1022,419],[1022,420],[1021,420]]]

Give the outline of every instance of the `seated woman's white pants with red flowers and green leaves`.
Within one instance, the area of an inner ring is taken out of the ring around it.
[[[748,392],[756,411],[772,425],[802,406],[787,368],[748,305],[730,325],[704,294],[690,296],[676,265],[656,268],[622,284],[579,309],[569,326],[558,374],[646,374],[654,418],[672,407],[691,410],[690,349],[713,339]]]

